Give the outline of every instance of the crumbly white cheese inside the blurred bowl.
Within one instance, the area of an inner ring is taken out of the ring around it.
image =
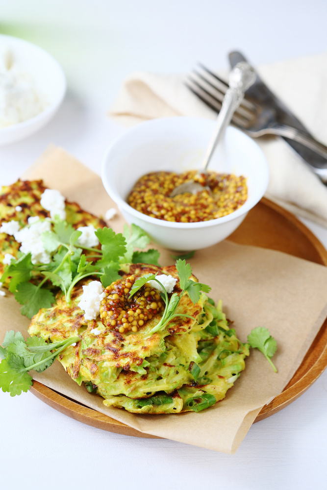
[[[0,128],[22,123],[40,114],[45,97],[14,53],[0,45]]]

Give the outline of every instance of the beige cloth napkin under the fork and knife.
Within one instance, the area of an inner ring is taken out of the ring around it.
[[[327,53],[258,67],[258,73],[312,134],[327,143]],[[222,75],[227,78],[226,73]],[[124,81],[110,115],[126,125],[165,116],[216,114],[183,84],[185,75],[137,72]],[[270,166],[266,196],[327,227],[327,187],[281,138],[255,140]]]

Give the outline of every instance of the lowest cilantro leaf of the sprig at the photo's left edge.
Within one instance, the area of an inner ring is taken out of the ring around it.
[[[10,396],[20,395],[21,392],[27,392],[32,386],[32,378],[26,372],[23,360],[8,355],[0,363],[0,387],[3,392],[10,392]]]

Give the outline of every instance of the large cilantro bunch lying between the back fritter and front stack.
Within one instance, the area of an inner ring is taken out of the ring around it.
[[[103,287],[121,278],[118,271],[129,262],[158,265],[159,252],[143,249],[150,238],[139,226],[126,225],[124,235],[111,228],[98,228],[95,232],[101,244],[98,247],[78,245],[81,235],[66,221],[55,219],[50,231],[42,233],[41,240],[50,254],[49,264],[33,264],[31,253],[20,254],[4,270],[0,282],[10,278],[9,291],[22,305],[21,312],[32,318],[41,308],[50,308],[54,293],[60,288],[69,304],[74,286],[89,276],[98,276]]]

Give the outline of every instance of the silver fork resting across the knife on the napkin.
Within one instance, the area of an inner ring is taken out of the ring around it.
[[[186,85],[210,109],[219,113],[228,84],[200,63],[199,67],[200,70],[194,70],[188,76]],[[252,138],[267,134],[283,136],[301,143],[327,159],[327,147],[325,145],[295,127],[277,123],[274,118],[275,115],[272,110],[247,100],[245,96],[242,104],[234,113],[232,123]],[[325,169],[321,170],[324,171]]]

